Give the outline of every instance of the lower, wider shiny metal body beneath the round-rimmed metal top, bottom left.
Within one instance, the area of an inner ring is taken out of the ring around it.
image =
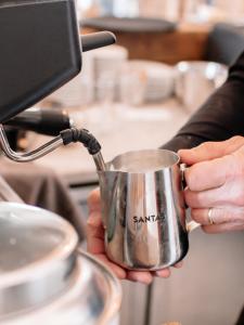
[[[121,303],[118,280],[100,261],[79,251],[68,288],[52,301],[17,313],[1,325],[115,325]]]

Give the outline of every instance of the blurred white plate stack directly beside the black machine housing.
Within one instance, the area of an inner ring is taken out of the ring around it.
[[[81,73],[48,100],[65,107],[86,106],[95,100],[114,101],[121,66],[127,57],[128,51],[119,46],[84,53]]]

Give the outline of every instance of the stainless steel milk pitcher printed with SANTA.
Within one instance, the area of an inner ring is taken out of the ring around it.
[[[129,152],[98,171],[108,258],[131,270],[158,270],[188,252],[179,156]]]

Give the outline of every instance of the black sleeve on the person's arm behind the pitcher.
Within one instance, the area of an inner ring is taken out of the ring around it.
[[[244,52],[230,68],[226,83],[162,148],[178,151],[233,135],[244,135]]]

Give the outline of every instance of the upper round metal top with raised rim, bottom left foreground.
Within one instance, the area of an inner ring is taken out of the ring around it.
[[[78,237],[59,216],[0,203],[0,320],[60,295],[72,282]]]

